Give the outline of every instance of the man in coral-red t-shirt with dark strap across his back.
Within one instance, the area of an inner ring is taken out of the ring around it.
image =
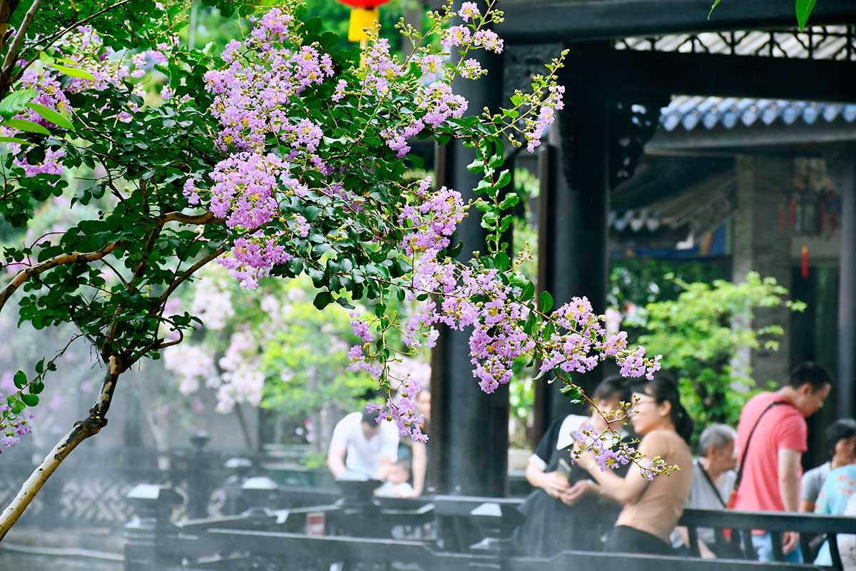
[[[735,442],[738,457],[745,461],[740,467],[742,479],[734,509],[799,510],[800,458],[808,444],[805,419],[823,407],[831,388],[829,372],[817,363],[806,362],[794,369],[787,385],[746,402]],[[770,533],[759,530],[753,533],[752,544],[758,551],[758,560],[773,561]],[[802,562],[799,543],[799,533],[783,534],[782,552],[786,561]]]

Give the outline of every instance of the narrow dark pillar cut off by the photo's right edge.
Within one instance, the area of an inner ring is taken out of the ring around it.
[[[856,401],[856,146],[836,161],[841,187],[841,269],[838,282],[838,418],[849,418]]]

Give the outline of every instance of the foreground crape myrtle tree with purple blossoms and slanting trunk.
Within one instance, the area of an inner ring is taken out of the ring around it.
[[[449,3],[430,14],[425,33],[401,23],[413,43],[406,57],[390,56],[377,30],[361,53],[342,51],[300,3],[277,4],[221,2],[251,26],[214,53],[175,41],[187,3],[3,3],[3,218],[26,225],[35,205],[57,195],[72,208],[109,196],[112,207],[61,235],[4,251],[9,280],[0,311],[15,294],[21,321],[74,324],[72,342],[91,345],[103,378],[86,418],[4,509],[0,537],[63,459],[106,425],[122,373],[157,359],[199,324],[189,312],[170,311],[169,300],[215,260],[245,288],[263,277],[305,275],[319,290],[318,310],[356,300],[369,307],[372,318],[352,324],[360,343],[348,351],[348,366],[386,391],[377,418],[415,439],[425,439],[414,402],[419,386],[407,375],[394,378],[390,364],[431,346],[438,324],[472,331],[473,376],[486,393],[508,383],[515,360],[555,373],[577,400],[586,396],[570,374],[607,358],[632,377],[659,368],[644,348],[628,348],[623,333],[608,335],[588,300],[556,308],[549,293],[536,300],[517,271],[526,252],[505,253],[502,234],[519,196],[500,192],[510,179],[504,141],[538,146],[562,108],[561,57],[508,107],[467,115],[452,82],[485,73],[476,52],[502,51],[490,30],[502,21],[493,3]],[[142,98],[152,66],[166,80],[159,105]],[[419,166],[407,154],[415,136],[472,147],[478,198],[464,201],[427,178],[404,182],[405,171]],[[71,184],[81,182],[75,178],[85,184]],[[487,245],[459,260],[453,235],[468,216],[480,217]],[[424,308],[407,320],[388,311],[389,300],[408,297]],[[45,355],[15,375],[4,431],[26,428],[27,410],[56,377],[50,373],[61,356]],[[641,462],[586,436],[603,467]],[[663,461],[645,467],[651,476],[669,469]]]

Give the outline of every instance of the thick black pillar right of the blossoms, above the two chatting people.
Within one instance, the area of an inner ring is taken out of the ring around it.
[[[540,151],[538,288],[552,294],[554,307],[585,295],[596,312],[606,309],[609,110],[609,93],[568,89],[565,110]],[[572,378],[590,394],[602,372],[598,367]],[[559,389],[558,383],[536,385],[536,437],[554,420],[585,412]]]

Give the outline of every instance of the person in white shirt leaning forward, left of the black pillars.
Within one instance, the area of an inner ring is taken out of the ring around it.
[[[327,467],[334,478],[348,473],[383,480],[397,457],[394,423],[384,420],[377,424],[373,413],[350,413],[333,429]]]

